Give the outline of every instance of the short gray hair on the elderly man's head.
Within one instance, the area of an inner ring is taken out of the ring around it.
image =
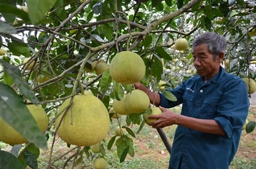
[[[192,48],[201,44],[208,45],[208,50],[213,54],[214,60],[216,60],[216,57],[220,52],[225,54],[227,47],[227,41],[225,37],[211,32],[196,36],[193,41]]]

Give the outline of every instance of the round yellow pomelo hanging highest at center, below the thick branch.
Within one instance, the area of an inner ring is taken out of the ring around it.
[[[118,83],[134,84],[145,76],[146,66],[137,53],[123,51],[111,60],[109,73]]]

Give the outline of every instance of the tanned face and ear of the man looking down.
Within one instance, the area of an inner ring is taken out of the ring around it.
[[[201,77],[205,77],[206,81],[219,72],[220,63],[223,60],[222,52],[217,55],[215,61],[213,54],[208,50],[206,44],[195,46],[192,53],[197,74]]]

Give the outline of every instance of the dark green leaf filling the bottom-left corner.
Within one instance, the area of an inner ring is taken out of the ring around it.
[[[13,156],[10,152],[0,150],[0,168],[8,169],[25,169],[18,158]]]

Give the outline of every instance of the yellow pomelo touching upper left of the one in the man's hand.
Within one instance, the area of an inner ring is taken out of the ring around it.
[[[149,103],[148,95],[141,90],[133,90],[126,95],[124,100],[126,110],[132,113],[139,113],[147,110]]]

